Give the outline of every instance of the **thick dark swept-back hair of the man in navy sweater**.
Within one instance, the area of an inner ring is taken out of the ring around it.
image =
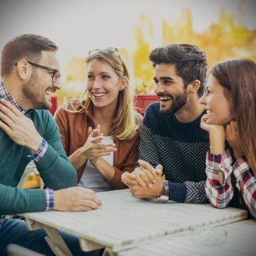
[[[174,64],[177,75],[181,76],[185,88],[194,80],[200,80],[198,97],[205,91],[207,78],[207,56],[195,45],[172,43],[150,52],[153,67],[161,63]]]

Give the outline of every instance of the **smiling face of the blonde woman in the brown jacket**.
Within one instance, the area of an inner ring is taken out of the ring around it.
[[[94,106],[116,108],[119,91],[124,89],[124,83],[113,67],[107,62],[93,59],[87,66],[87,72],[87,90]]]

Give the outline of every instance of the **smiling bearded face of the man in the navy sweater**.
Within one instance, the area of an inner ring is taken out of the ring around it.
[[[183,79],[177,75],[174,64],[161,63],[156,65],[154,81],[156,82],[154,92],[159,97],[162,113],[176,113],[185,106],[187,90]]]

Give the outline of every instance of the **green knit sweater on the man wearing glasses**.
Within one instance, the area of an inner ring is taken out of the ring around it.
[[[62,148],[58,127],[47,110],[32,110],[32,121],[49,144],[36,167],[45,185],[57,190],[76,185],[76,172]],[[0,128],[0,216],[45,211],[44,189],[20,189],[18,185],[30,162],[30,151],[19,146]]]

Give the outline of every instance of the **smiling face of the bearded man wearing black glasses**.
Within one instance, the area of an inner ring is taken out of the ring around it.
[[[42,51],[38,64],[60,70],[55,51]],[[23,97],[30,102],[31,108],[49,109],[51,95],[60,89],[60,85],[52,82],[51,71],[40,67],[33,67],[33,69],[30,80],[23,86]]]

